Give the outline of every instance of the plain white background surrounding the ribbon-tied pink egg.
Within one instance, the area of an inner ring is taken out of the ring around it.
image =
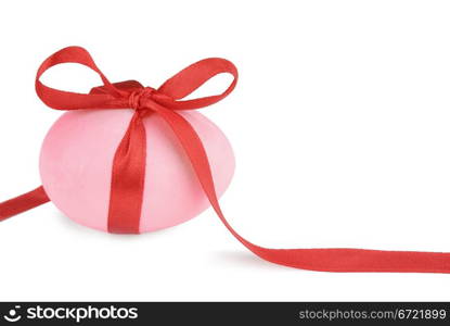
[[[111,80],[151,86],[223,57],[239,86],[203,112],[235,150],[221,202],[243,236],[450,251],[449,16],[447,1],[2,1],[0,198],[40,184],[40,143],[61,113],[39,101],[34,78],[55,50],[86,47]],[[86,70],[54,71],[52,86],[99,84]],[[0,258],[1,300],[450,299],[448,275],[267,263],[210,210],[113,236],[47,204],[1,223]]]

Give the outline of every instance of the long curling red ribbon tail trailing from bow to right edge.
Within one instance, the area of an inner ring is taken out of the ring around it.
[[[181,115],[165,108],[157,112],[169,124],[197,175],[203,190],[228,230],[259,258],[301,269],[321,272],[410,272],[450,273],[450,253],[384,251],[367,249],[270,249],[256,246],[239,235],[226,220],[217,199],[206,151],[193,127]]]

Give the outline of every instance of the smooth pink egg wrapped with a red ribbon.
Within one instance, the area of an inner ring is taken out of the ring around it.
[[[64,113],[49,130],[40,154],[43,188],[75,222],[107,230],[114,153],[131,110]],[[234,155],[223,133],[196,111],[181,112],[207,152],[216,191],[221,196],[234,172]],[[169,126],[157,114],[144,118],[146,170],[140,233],[183,223],[209,206],[194,171]]]

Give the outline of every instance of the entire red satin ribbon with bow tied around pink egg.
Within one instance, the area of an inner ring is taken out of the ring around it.
[[[80,63],[95,71],[103,86],[89,95],[67,92],[44,86],[39,77],[60,63]],[[221,95],[181,100],[217,74],[229,73],[234,79]],[[158,114],[170,126],[197,175],[209,202],[229,231],[256,255],[269,262],[326,272],[420,272],[450,273],[450,253],[383,251],[364,249],[269,249],[241,237],[227,222],[215,190],[209,162],[197,134],[178,110],[210,105],[228,96],[237,82],[235,66],[213,58],[198,61],[163,84],[158,89],[143,87],[134,80],[111,84],[82,48],[65,48],[49,57],[39,67],[36,91],[50,108],[57,110],[129,109],[136,110],[113,162],[108,231],[138,233],[145,177],[145,128],[142,118]],[[42,187],[0,203],[0,221],[49,201]]]

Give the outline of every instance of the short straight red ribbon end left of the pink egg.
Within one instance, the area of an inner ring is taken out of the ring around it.
[[[35,190],[17,196],[0,203],[0,221],[21,214],[41,204],[49,202],[50,199],[40,186]]]

